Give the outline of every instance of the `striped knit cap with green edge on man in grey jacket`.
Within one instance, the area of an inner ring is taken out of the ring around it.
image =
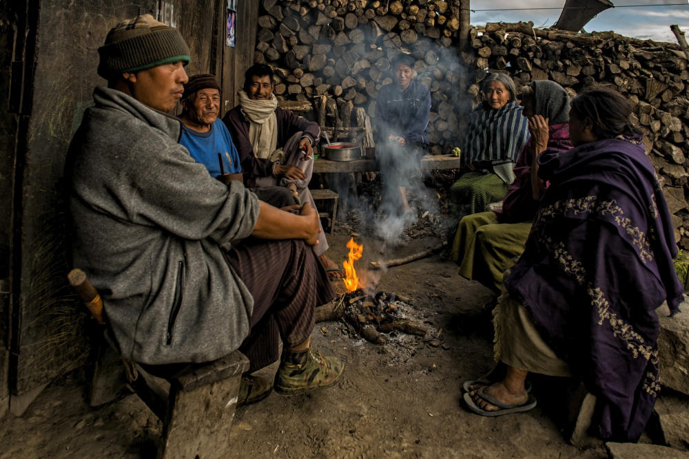
[[[98,74],[105,79],[179,61],[187,65],[191,60],[182,34],[150,14],[117,24],[107,32],[98,54],[101,56]]]

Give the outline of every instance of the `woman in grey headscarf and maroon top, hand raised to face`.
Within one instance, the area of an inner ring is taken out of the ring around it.
[[[562,86],[554,81],[533,81],[524,87],[521,98],[531,137],[513,169],[515,180],[502,202],[502,210],[466,215],[452,246],[451,256],[461,266],[460,275],[479,281],[495,295],[500,295],[505,270],[524,251],[545,187],[535,177],[536,158],[546,149],[572,148],[569,96]]]

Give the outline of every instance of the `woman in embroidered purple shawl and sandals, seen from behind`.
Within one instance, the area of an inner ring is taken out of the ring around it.
[[[464,401],[484,416],[522,412],[536,405],[528,372],[575,374],[597,397],[599,436],[636,441],[660,392],[655,310],[667,299],[674,314],[683,297],[675,235],[626,99],[590,89],[571,107],[575,148],[537,160],[551,186],[495,310],[502,380],[468,382]]]

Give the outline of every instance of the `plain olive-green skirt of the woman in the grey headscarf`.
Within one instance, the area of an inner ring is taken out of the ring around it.
[[[460,275],[500,294],[502,275],[524,252],[531,222],[500,223],[495,212],[462,218],[452,244],[452,259]]]

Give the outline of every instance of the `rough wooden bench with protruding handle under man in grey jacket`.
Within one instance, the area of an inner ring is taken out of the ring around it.
[[[143,365],[123,359],[107,343],[103,301],[96,289],[81,270],[72,270],[68,279],[99,323],[92,334],[90,405],[114,400],[126,375],[131,389],[163,423],[158,459],[226,457],[249,359],[239,351],[208,363]]]

